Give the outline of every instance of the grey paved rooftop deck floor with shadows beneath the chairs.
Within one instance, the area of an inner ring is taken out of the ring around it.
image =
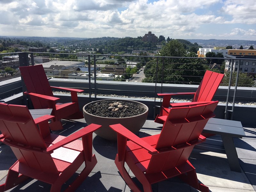
[[[56,134],[68,136],[80,128],[86,126],[84,119],[77,121],[62,121],[63,130],[54,132]],[[256,127],[243,125],[246,137],[235,138],[239,162],[242,172],[230,171],[227,156],[225,154],[206,152],[194,149],[189,161],[194,165],[197,177],[204,185],[208,186],[212,192],[244,192],[256,190]],[[158,134],[161,124],[148,119],[139,132],[139,137]],[[218,136],[215,136],[218,139]],[[95,153],[98,163],[76,191],[112,191],[128,192],[130,188],[125,184],[119,175],[114,159],[117,153],[115,141],[108,141],[93,134],[93,153]],[[10,166],[16,161],[9,146],[0,145],[0,184],[5,182]],[[82,170],[82,169],[80,169]],[[132,172],[131,172],[132,174]],[[178,178],[172,178],[152,185],[153,191],[197,191],[188,184],[183,183]],[[49,191],[50,185],[38,180],[28,180],[23,185],[19,185],[9,191]]]

